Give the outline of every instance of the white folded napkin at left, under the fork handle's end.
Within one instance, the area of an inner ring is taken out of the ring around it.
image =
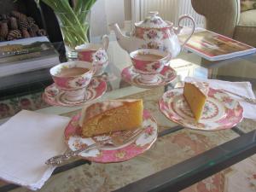
[[[54,171],[45,160],[64,153],[67,117],[22,110],[0,126],[0,179],[40,189]]]

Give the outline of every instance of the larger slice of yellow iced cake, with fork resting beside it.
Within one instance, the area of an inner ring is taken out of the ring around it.
[[[96,102],[82,110],[82,137],[134,130],[143,124],[143,100]]]

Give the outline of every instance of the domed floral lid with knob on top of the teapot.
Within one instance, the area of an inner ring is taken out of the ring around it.
[[[135,23],[135,26],[142,28],[163,28],[171,26],[170,23],[167,23],[165,20],[162,20],[158,16],[157,11],[150,11],[148,17],[145,20]]]

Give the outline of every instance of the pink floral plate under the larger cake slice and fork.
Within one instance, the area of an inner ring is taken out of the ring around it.
[[[102,135],[98,137],[80,137],[79,131],[79,119],[81,113],[75,115],[69,124],[66,127],[64,132],[65,140],[67,146],[71,150],[77,150],[81,146],[90,145],[96,143],[97,141],[101,141],[102,138],[111,137],[111,135]],[[80,157],[94,161],[99,163],[113,163],[120,162],[125,160],[130,160],[131,158],[137,156],[138,154],[143,154],[146,150],[148,150],[152,144],[156,141],[157,138],[157,123],[153,116],[147,111],[143,111],[143,129],[144,131],[141,133],[137,140],[132,143],[125,144],[124,146],[120,146],[119,148],[108,147],[99,149],[91,149],[88,152],[82,152],[79,154]],[[115,137],[117,134],[124,134],[125,131],[114,132]]]

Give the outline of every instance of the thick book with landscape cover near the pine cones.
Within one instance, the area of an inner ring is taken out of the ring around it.
[[[0,77],[52,67],[59,54],[46,37],[0,43]]]

